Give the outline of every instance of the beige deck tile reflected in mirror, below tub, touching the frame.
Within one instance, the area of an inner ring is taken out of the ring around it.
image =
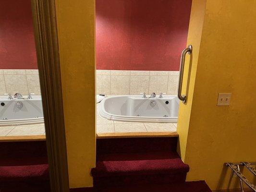
[[[44,126],[17,126],[7,136],[15,135],[42,135],[45,132]]]

